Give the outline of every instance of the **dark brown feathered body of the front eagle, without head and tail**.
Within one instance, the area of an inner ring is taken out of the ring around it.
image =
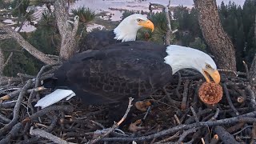
[[[75,55],[55,72],[55,88],[66,88],[87,104],[144,98],[171,81],[166,46],[122,42]]]

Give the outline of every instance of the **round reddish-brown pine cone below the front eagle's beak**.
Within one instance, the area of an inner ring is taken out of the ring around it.
[[[202,86],[200,86],[198,94],[202,102],[213,105],[222,99],[222,86],[214,82],[204,82]]]

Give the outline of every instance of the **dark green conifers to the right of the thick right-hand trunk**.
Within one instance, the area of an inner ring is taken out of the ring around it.
[[[243,70],[242,61],[250,65],[256,52],[254,35],[256,1],[246,0],[243,6],[237,6],[234,2],[225,5],[222,2],[218,12],[222,26],[234,44],[237,68]]]

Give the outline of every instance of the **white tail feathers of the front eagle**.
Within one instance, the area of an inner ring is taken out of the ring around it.
[[[69,100],[74,96],[75,94],[72,90],[57,89],[54,92],[47,94],[44,98],[41,98],[35,106],[41,106],[43,109],[47,106],[51,106],[54,103],[61,101],[63,98]]]

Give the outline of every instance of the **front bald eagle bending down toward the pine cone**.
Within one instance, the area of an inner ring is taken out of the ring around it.
[[[210,78],[220,82],[214,60],[190,47],[134,41],[111,45],[105,50],[87,50],[63,63],[54,78],[45,82],[57,90],[35,106],[44,108],[75,95],[86,104],[146,98],[171,82],[174,73],[186,68],[198,70],[207,82]]]

